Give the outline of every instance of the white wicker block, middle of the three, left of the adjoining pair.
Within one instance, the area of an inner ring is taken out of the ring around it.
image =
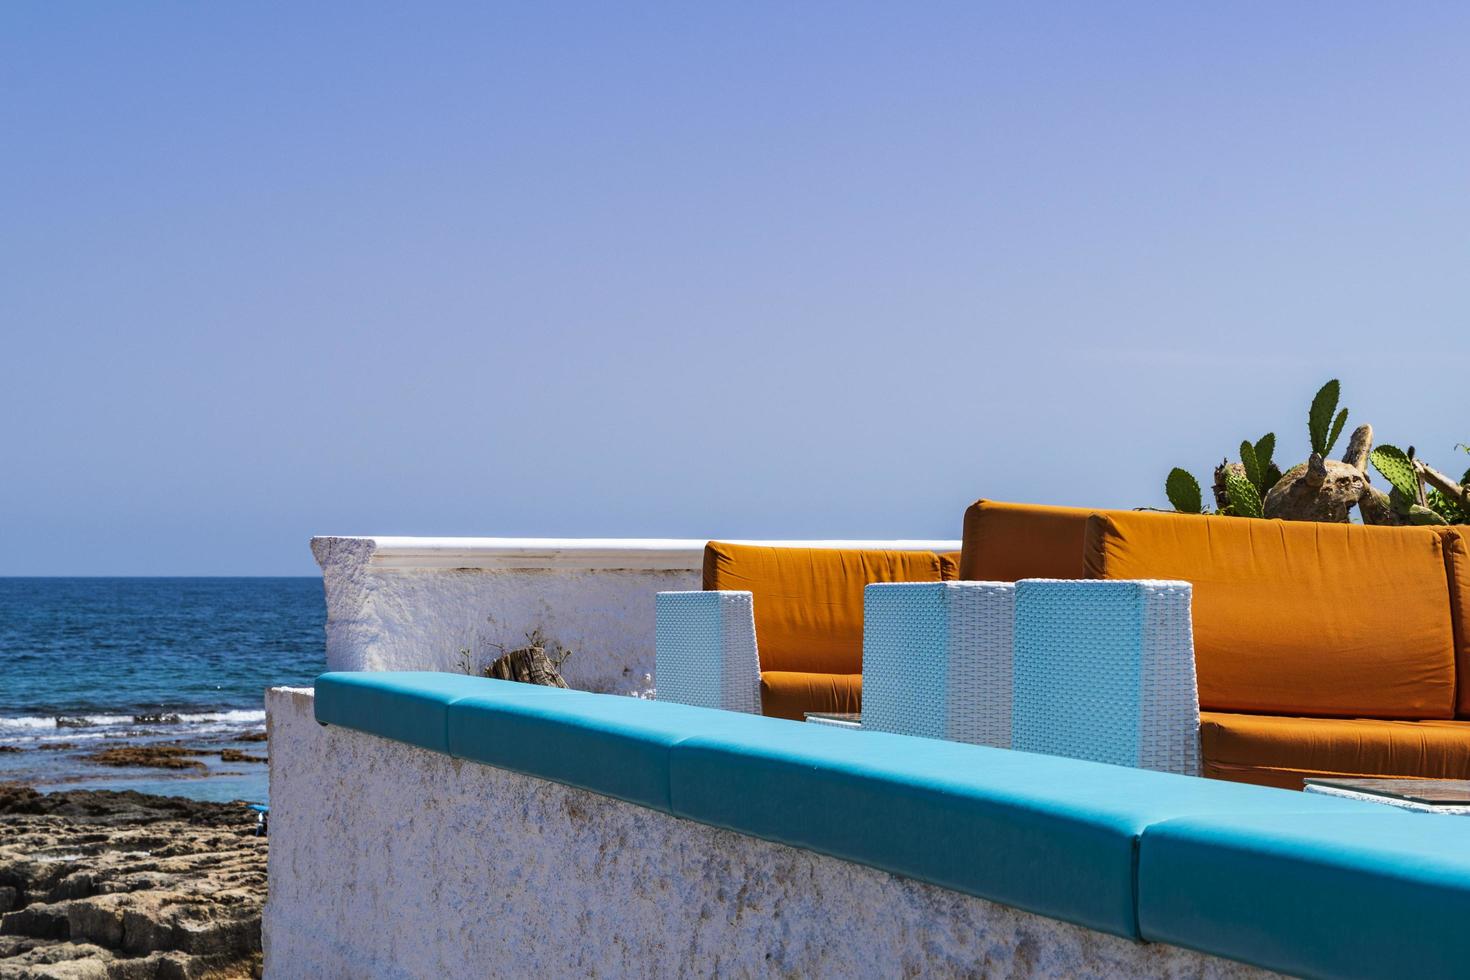
[[[863,592],[863,727],[1008,748],[1008,582],[892,582]]]

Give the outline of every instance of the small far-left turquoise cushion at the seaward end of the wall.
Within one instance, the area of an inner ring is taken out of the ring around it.
[[[551,688],[435,671],[334,671],[316,679],[316,720],[448,752],[448,705],[457,698],[517,688],[537,696]]]

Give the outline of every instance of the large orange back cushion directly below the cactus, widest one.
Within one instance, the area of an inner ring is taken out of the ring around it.
[[[1095,579],[1194,583],[1200,707],[1452,718],[1445,538],[1427,527],[1113,511],[1088,519]]]

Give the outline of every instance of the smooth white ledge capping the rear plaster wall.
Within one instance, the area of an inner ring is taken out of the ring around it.
[[[782,548],[958,551],[958,541],[748,541]],[[343,547],[370,550],[368,567],[391,569],[663,569],[698,570],[704,539],[694,538],[398,538],[323,535],[312,554],[325,567]]]

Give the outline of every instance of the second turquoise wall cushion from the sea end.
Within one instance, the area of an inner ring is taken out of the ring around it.
[[[448,707],[450,754],[670,813],[669,751],[691,735],[748,738],[801,721],[664,701],[557,691],[526,699],[498,688]]]

